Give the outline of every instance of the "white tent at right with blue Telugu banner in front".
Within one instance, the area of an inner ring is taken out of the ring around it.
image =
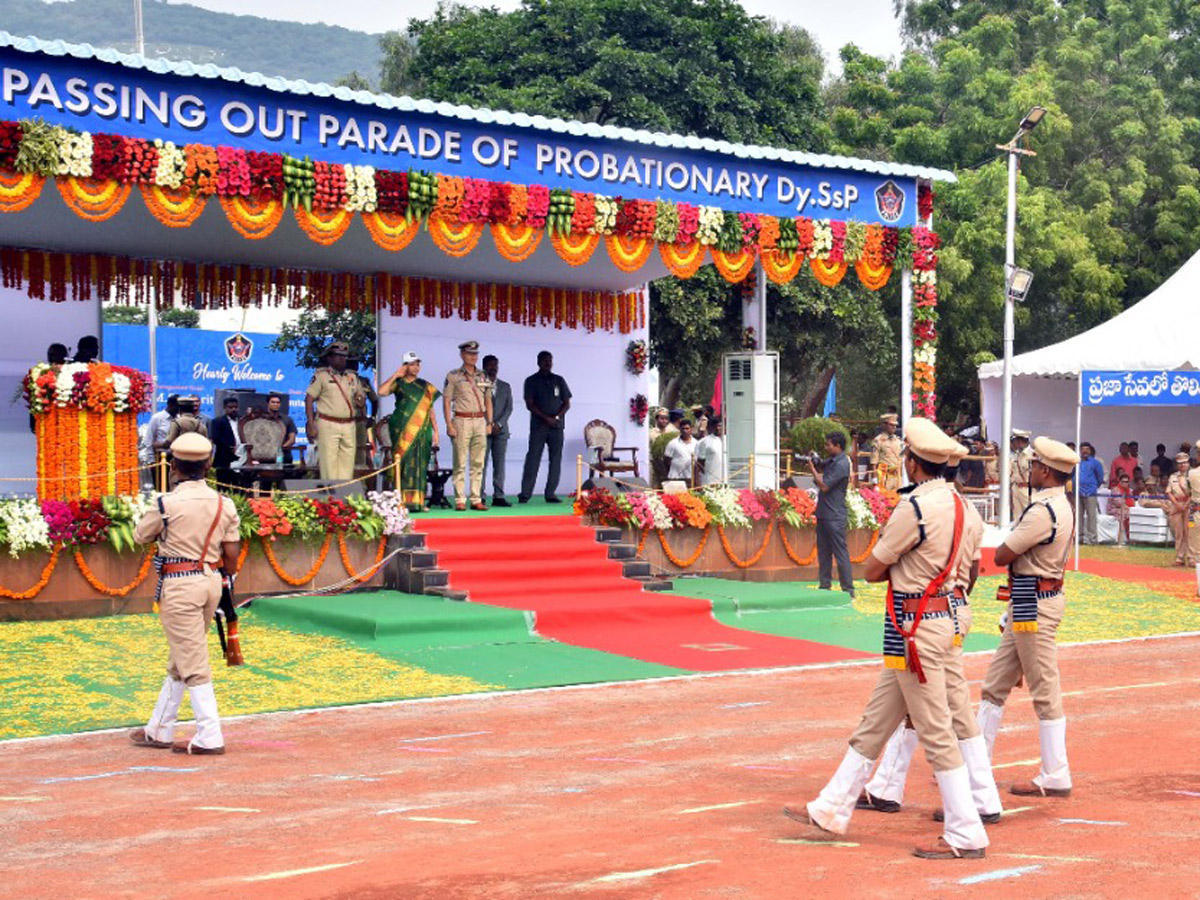
[[[1013,358],[1013,427],[1073,440],[1079,373],[1084,370],[1200,368],[1200,253],[1157,290],[1090,331]],[[979,391],[988,433],[1001,437],[1003,362],[979,366]],[[1084,415],[1084,440],[1112,460],[1117,444],[1138,440],[1147,469],[1154,444],[1174,456],[1184,440],[1200,438],[1200,416],[1184,407],[1109,407]],[[1147,470],[1148,475],[1150,472]]]

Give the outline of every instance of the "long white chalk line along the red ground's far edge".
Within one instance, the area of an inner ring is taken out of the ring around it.
[[[1104,647],[1106,644],[1120,644],[1120,643],[1141,643],[1145,641],[1171,641],[1176,638],[1195,638],[1200,637],[1200,631],[1177,631],[1170,635],[1139,635],[1135,637],[1110,637],[1099,641],[1076,641],[1074,643],[1061,643],[1058,644],[1058,654],[1069,654],[1075,648],[1086,649],[1090,647]],[[964,656],[990,656],[995,650],[970,650],[964,653]],[[253,722],[264,721],[269,719],[295,719],[301,715],[320,715],[324,713],[344,713],[348,710],[365,710],[365,709],[391,709],[395,707],[409,707],[409,706],[427,706],[432,703],[446,703],[457,704],[464,702],[492,702],[498,700],[506,700],[510,697],[530,697],[539,694],[562,694],[566,691],[599,691],[608,690],[613,688],[646,688],[648,685],[668,684],[672,682],[698,682],[710,678],[730,678],[730,677],[750,677],[750,678],[763,678],[772,677],[778,678],[779,676],[786,674],[799,674],[804,672],[821,672],[826,670],[835,668],[863,668],[866,666],[878,666],[880,659],[877,654],[870,656],[864,656],[862,659],[846,659],[846,660],[834,660],[832,662],[809,662],[802,666],[776,666],[774,668],[734,668],[725,672],[692,672],[685,676],[664,676],[662,678],[637,678],[637,679],[625,679],[619,682],[593,682],[589,684],[559,684],[550,688],[514,688],[511,690],[500,691],[474,691],[472,694],[454,694],[443,697],[409,697],[407,700],[376,700],[366,703],[342,703],[340,706],[330,707],[304,707],[300,709],[276,709],[268,713],[246,713],[245,715],[229,715],[221,716],[222,722]],[[1200,679],[1198,679],[1200,680]],[[77,731],[66,732],[59,734],[37,734],[29,738],[4,738],[0,739],[0,746],[6,746],[8,744],[31,744],[36,742],[65,742],[73,740],[78,737],[88,736],[104,736],[104,734],[124,734],[130,730],[128,725],[121,725],[113,728],[95,728],[91,731]]]

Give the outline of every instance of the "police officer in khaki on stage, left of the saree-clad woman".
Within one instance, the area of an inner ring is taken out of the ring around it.
[[[317,439],[317,462],[326,481],[354,478],[358,418],[366,408],[366,395],[358,374],[346,367],[349,356],[344,341],[329,344],[322,358],[326,365],[313,372],[305,391],[308,438]]]

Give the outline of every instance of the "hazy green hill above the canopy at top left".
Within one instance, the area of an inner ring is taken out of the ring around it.
[[[20,37],[133,50],[130,0],[0,0],[0,29]],[[335,25],[275,22],[145,0],[146,55],[236,66],[310,82],[335,82],[352,71],[376,83],[379,40]]]

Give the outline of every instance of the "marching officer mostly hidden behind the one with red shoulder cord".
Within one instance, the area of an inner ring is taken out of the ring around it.
[[[967,456],[962,446],[946,466],[943,478],[950,485],[955,484],[959,464]],[[970,503],[964,506],[965,521],[962,528],[962,551],[959,554],[959,569],[955,575],[954,595],[950,598],[954,613],[954,650],[946,666],[946,700],[950,707],[954,721],[954,736],[959,739],[959,751],[966,763],[971,779],[971,796],[984,824],[1000,821],[1002,804],[996,790],[996,779],[991,772],[991,760],[988,757],[988,744],[979,732],[974,710],[971,707],[971,686],[962,667],[962,641],[971,632],[971,588],[979,576],[980,545],[983,542],[983,518]],[[858,798],[858,809],[870,809],[878,812],[899,812],[904,803],[905,784],[908,779],[908,767],[917,751],[917,731],[907,718],[892,734],[883,751],[875,775],[866,782],[866,790]],[[941,821],[941,810],[934,818]]]

